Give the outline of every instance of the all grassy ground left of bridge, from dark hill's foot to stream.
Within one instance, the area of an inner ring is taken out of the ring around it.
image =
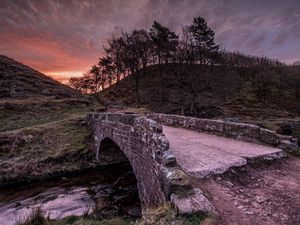
[[[94,166],[81,122],[97,107],[87,98],[1,99],[0,186]]]

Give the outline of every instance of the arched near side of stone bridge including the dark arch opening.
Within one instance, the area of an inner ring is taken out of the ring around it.
[[[87,121],[100,164],[128,160],[137,179],[142,208],[163,204],[169,198],[162,163],[169,142],[162,126],[130,114],[88,114]]]

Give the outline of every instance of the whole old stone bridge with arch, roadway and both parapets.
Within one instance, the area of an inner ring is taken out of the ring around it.
[[[89,113],[87,123],[101,164],[131,164],[143,209],[171,200],[182,214],[213,211],[201,190],[192,187],[189,176],[224,173],[248,161],[280,158],[283,150],[298,150],[292,137],[222,120]]]

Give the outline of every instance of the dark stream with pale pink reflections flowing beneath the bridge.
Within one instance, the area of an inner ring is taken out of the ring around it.
[[[51,219],[80,216],[93,209],[99,218],[140,216],[136,179],[128,164],[0,189],[0,224],[13,225],[36,207]]]

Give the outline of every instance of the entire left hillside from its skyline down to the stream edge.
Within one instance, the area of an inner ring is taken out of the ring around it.
[[[94,98],[0,56],[0,186],[95,166],[84,118],[99,106]]]

